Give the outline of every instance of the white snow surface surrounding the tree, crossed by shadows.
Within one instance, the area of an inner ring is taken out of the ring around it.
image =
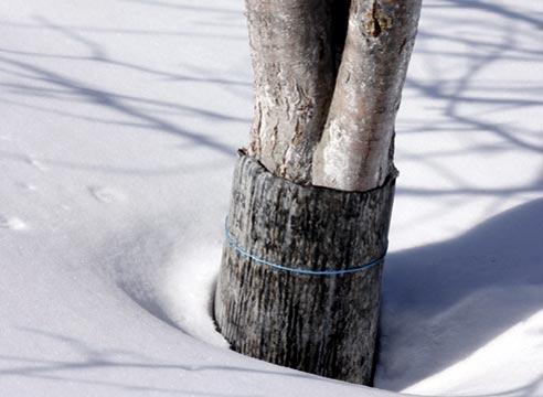
[[[424,3],[376,388],[214,330],[241,0],[3,0],[0,37],[0,396],[543,395],[541,0]]]

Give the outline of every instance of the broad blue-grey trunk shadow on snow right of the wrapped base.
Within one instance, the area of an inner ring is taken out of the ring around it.
[[[543,310],[542,219],[543,198],[534,200],[458,238],[387,256],[383,329],[396,336],[382,335],[380,371],[395,379],[388,388],[454,365]]]

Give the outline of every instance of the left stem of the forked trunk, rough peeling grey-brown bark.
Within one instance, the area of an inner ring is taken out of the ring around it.
[[[248,150],[276,175],[302,184],[311,182],[343,41],[341,30],[332,34],[332,3],[246,0],[255,76]]]

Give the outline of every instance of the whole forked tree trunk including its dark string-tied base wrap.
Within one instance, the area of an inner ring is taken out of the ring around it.
[[[215,319],[232,348],[370,384],[420,0],[246,0],[255,75]]]

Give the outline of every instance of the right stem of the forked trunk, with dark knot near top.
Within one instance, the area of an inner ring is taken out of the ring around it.
[[[352,0],[333,98],[312,163],[312,183],[344,191],[390,173],[394,122],[420,0]]]

